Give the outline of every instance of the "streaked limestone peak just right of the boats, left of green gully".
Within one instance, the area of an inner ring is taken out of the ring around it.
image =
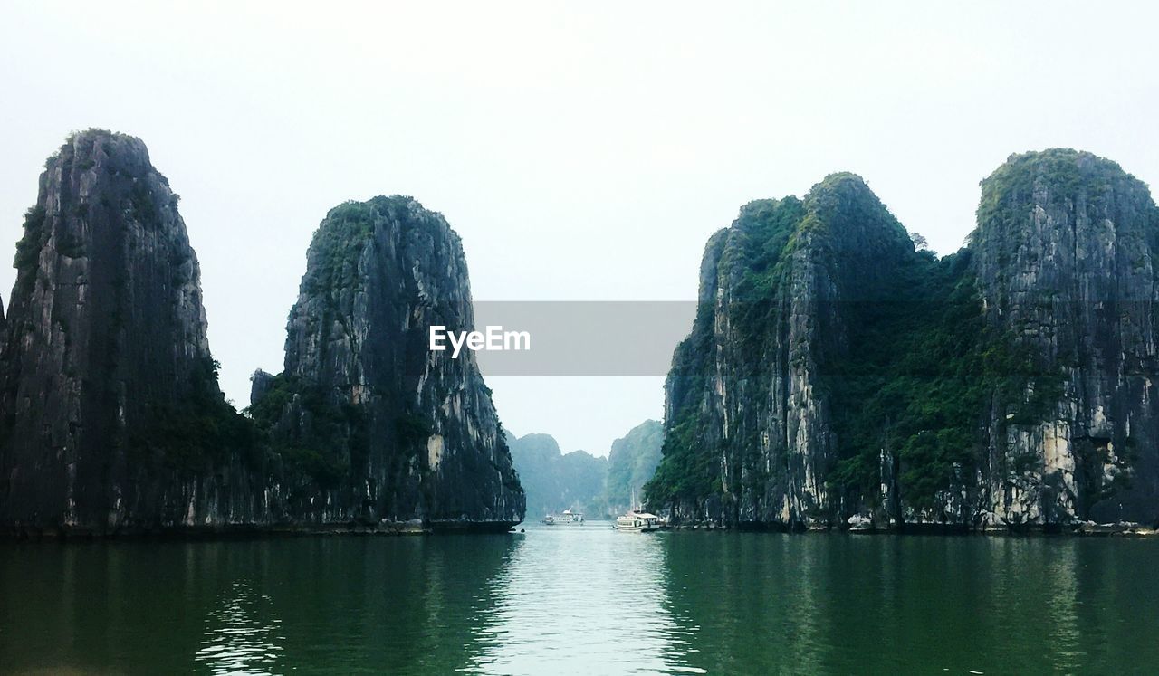
[[[904,228],[850,174],[804,200],[751,203],[713,235],[692,335],[668,377],[649,502],[685,519],[829,520],[838,446],[825,367],[850,352],[860,306],[887,300],[892,269],[911,256]]]

